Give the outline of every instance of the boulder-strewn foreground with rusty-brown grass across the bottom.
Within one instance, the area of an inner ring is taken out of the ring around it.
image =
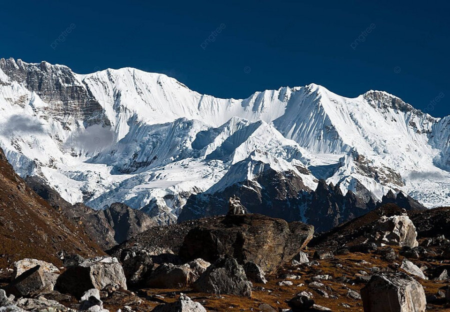
[[[108,256],[4,267],[0,311],[442,310],[448,220],[450,208],[390,204],[316,237],[258,214],[153,227]]]

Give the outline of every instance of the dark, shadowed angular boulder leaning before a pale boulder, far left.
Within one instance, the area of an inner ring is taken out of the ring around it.
[[[37,265],[11,281],[5,290],[16,297],[25,297],[38,294],[44,287],[43,271],[40,265]]]

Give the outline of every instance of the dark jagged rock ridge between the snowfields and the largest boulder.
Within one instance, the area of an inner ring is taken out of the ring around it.
[[[359,194],[370,193],[361,184],[357,188]],[[311,191],[295,173],[281,174],[266,168],[255,182],[242,181],[221,192],[190,196],[178,222],[226,214],[229,207],[224,198],[233,198],[234,194],[251,213],[261,213],[289,222],[306,219],[306,223],[313,225],[317,232],[327,231],[376,207],[376,202],[370,195],[365,198],[351,191],[343,195],[338,185],[327,185],[324,180],[320,180],[317,188]],[[291,207],[302,207],[304,216]]]

